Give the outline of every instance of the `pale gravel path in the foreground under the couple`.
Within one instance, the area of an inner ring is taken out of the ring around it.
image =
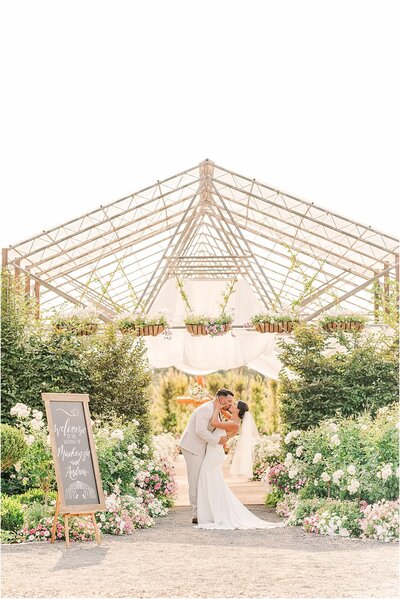
[[[272,511],[253,506],[265,520]],[[398,548],[299,528],[205,531],[190,509],[94,543],[7,545],[3,597],[397,597]]]

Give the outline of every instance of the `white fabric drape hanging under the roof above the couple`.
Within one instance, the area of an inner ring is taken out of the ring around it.
[[[196,314],[216,316],[220,312],[222,291],[226,281],[185,280],[189,302]],[[249,322],[250,317],[263,310],[261,302],[244,280],[236,284],[228,309],[233,309],[235,324]],[[182,326],[186,315],[185,305],[176,287],[169,279],[161,288],[151,313],[165,313],[172,326]],[[175,366],[188,374],[209,374],[216,370],[230,370],[248,366],[278,378],[281,363],[275,353],[276,336],[245,329],[234,329],[221,337],[193,337],[186,330],[174,330],[172,339],[162,335],[145,337],[148,358],[152,368]]]

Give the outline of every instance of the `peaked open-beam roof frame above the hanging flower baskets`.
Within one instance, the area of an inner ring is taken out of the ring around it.
[[[266,309],[306,319],[340,303],[373,312],[371,286],[399,280],[398,240],[205,160],[3,250],[43,311],[94,305],[104,320],[151,310],[170,277],[242,276]],[[307,285],[312,286],[308,295]]]

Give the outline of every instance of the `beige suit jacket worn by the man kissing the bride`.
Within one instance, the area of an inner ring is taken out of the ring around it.
[[[179,441],[181,449],[190,451],[195,455],[204,455],[207,443],[214,446],[218,445],[219,435],[213,435],[209,428],[213,412],[213,401],[207,401],[195,409]]]

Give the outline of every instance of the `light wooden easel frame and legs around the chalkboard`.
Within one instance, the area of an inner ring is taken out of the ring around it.
[[[55,539],[55,531],[57,525],[58,515],[61,514],[64,516],[65,520],[65,540],[67,547],[69,546],[69,529],[68,529],[68,518],[70,516],[91,516],[95,535],[98,544],[100,545],[100,533],[96,524],[95,512],[105,511],[106,504],[103,493],[103,485],[100,477],[99,464],[97,460],[96,454],[96,446],[94,443],[92,425],[90,421],[90,413],[89,413],[89,395],[87,393],[42,393],[42,400],[46,409],[47,423],[50,433],[50,442],[51,442],[51,451],[53,454],[54,460],[54,469],[56,472],[56,481],[57,481],[57,503],[56,503],[56,511],[54,514],[54,522],[51,533],[51,542],[54,543]],[[62,480],[61,468],[58,463],[58,455],[57,455],[57,442],[54,432],[54,422],[53,416],[50,409],[51,402],[65,402],[65,401],[76,401],[80,402],[83,405],[83,413],[85,416],[86,422],[86,431],[89,442],[90,449],[90,457],[93,465],[93,473],[97,487],[97,496],[99,498],[98,503],[88,503],[88,504],[78,504],[78,505],[67,505],[65,503],[65,494],[64,494],[64,484]]]

